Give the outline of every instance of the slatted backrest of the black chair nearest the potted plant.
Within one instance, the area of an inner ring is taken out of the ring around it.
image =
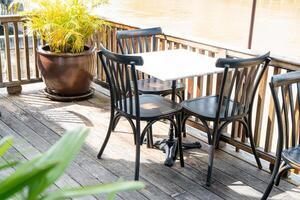
[[[140,115],[139,93],[135,65],[143,65],[140,56],[112,53],[100,45],[98,56],[110,87],[112,109]]]

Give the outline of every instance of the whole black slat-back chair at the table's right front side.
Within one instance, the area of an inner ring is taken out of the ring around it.
[[[261,168],[252,135],[251,115],[255,92],[269,62],[269,53],[249,59],[218,59],[216,66],[224,68],[219,94],[182,102],[183,125],[190,116],[194,116],[207,130],[210,145],[207,186],[211,184],[214,151],[221,131],[230,123],[240,122],[243,125],[257,165]],[[212,130],[209,122],[213,122]]]

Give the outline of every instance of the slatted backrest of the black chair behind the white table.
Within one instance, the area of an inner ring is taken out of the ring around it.
[[[117,31],[118,47],[122,54],[157,51],[158,35],[164,36],[160,27]]]

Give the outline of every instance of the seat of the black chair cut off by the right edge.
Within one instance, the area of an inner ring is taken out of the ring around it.
[[[293,167],[300,169],[300,146],[283,150],[282,159]]]

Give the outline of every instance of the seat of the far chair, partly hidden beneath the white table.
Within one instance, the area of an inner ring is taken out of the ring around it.
[[[156,78],[142,79],[137,81],[138,89],[141,94],[171,94],[172,82],[161,81]],[[184,90],[183,83],[177,83],[176,90]]]

